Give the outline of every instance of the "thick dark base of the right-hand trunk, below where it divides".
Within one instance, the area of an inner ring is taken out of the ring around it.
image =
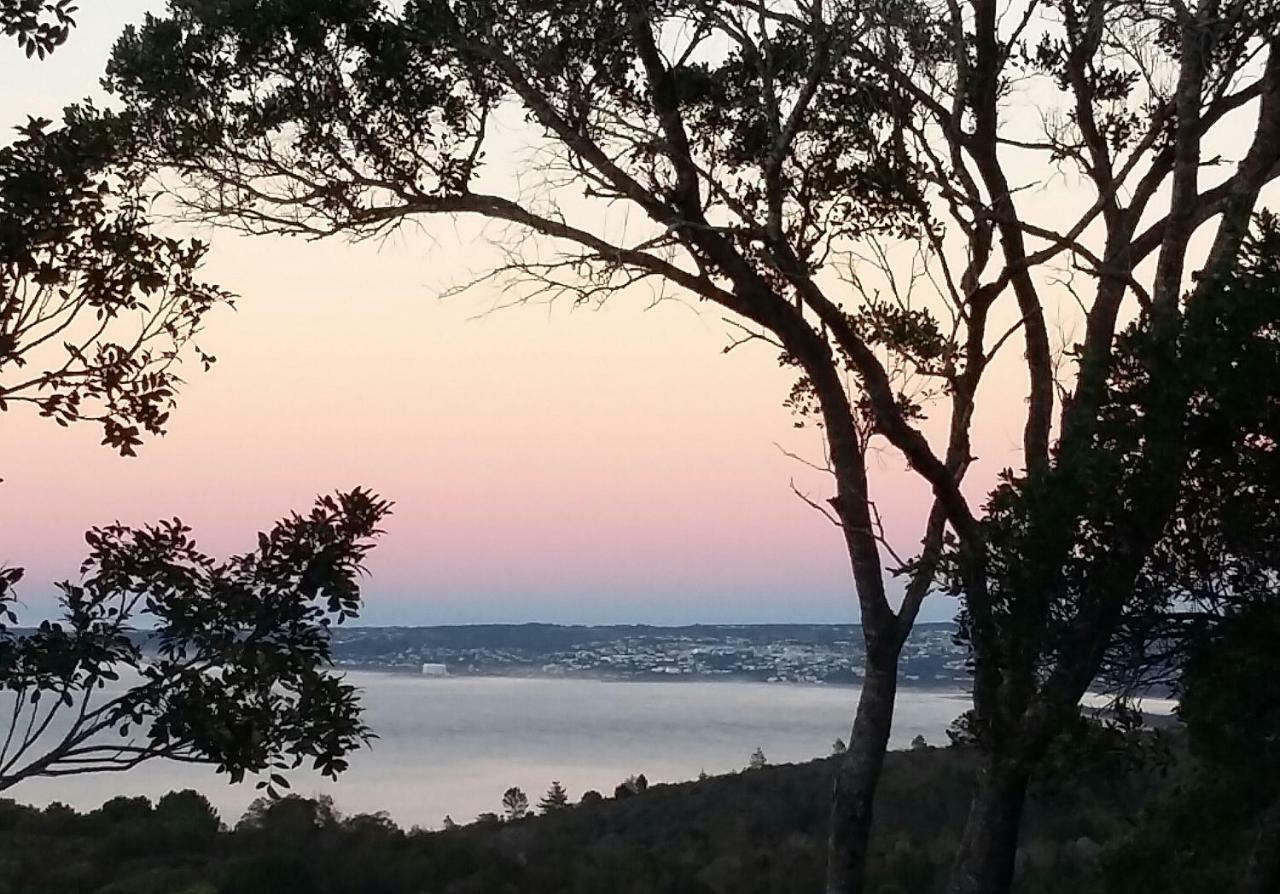
[[[982,770],[947,894],[1010,890],[1028,780],[1024,768],[997,758]]]

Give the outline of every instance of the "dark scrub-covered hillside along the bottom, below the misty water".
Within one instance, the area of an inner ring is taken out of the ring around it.
[[[1229,881],[1244,802],[1193,806],[1197,770],[1179,752],[1161,747],[1135,762],[1103,749],[1075,760],[1084,768],[1070,777],[1046,779],[1029,802],[1015,890],[1201,891]],[[975,763],[964,748],[890,756],[869,890],[941,890]],[[809,894],[822,890],[833,771],[833,760],[769,766],[445,831],[340,817],[328,801],[297,797],[256,802],[233,829],[191,792],[155,804],[115,798],[90,813],[5,801],[0,893]]]

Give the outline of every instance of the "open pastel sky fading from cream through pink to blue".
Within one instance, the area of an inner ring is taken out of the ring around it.
[[[84,4],[42,64],[0,45],[0,123],[95,92],[114,35],[156,5]],[[123,460],[92,427],[0,416],[0,561],[28,569],[31,615],[76,574],[91,525],[178,515],[225,555],[317,492],[364,484],[397,503],[365,622],[854,620],[838,532],[790,489],[831,492],[780,451],[822,455],[782,407],[774,352],[726,355],[719,315],[680,301],[485,315],[492,291],[442,298],[483,270],[476,232],[434,222],[378,246],[215,233],[205,273],[238,309],[209,320],[219,362],[191,368],[165,438]],[[991,386],[1011,410],[1023,388],[1016,373]],[[1018,464],[1018,423],[997,409],[977,435],[975,493]],[[927,494],[896,456],[874,462],[910,551]],[[936,597],[924,616],[952,612]]]

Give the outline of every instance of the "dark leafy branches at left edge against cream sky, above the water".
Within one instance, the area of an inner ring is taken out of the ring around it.
[[[131,456],[169,420],[186,354],[230,296],[201,283],[206,246],[155,234],[127,122],[72,106],[0,149],[0,411],[101,425]]]

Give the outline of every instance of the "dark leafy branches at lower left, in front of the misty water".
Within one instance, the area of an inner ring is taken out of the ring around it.
[[[228,561],[179,520],[95,528],[63,617],[14,629],[20,578],[0,570],[0,790],[38,776],[207,763],[274,794],[308,762],[335,777],[367,743],[356,688],[330,670],[329,629],[360,611],[361,562],[389,505],[323,497]]]

